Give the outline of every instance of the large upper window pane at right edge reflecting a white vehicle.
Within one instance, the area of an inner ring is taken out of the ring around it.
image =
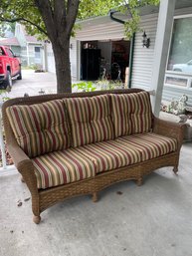
[[[192,17],[185,17],[174,20],[171,47],[167,65],[168,71],[192,75],[191,28]]]

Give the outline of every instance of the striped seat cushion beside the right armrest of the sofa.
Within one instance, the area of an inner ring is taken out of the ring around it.
[[[116,140],[127,148],[132,146],[136,148],[140,152],[142,161],[174,152],[177,149],[177,140],[175,138],[153,132],[122,136]]]

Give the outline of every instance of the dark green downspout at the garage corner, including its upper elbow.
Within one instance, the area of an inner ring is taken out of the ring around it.
[[[117,13],[118,11],[110,11],[109,15],[110,15],[110,19],[118,22],[120,24],[125,23],[125,21],[122,21],[120,19],[114,18],[113,14]],[[131,44],[130,44],[130,57],[129,57],[129,76],[128,76],[128,88],[131,88],[131,81],[132,81],[132,66],[133,66],[133,54],[134,54],[134,41],[135,41],[135,33],[132,35],[132,39],[131,39]]]

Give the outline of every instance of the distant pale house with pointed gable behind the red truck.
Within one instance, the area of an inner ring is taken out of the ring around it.
[[[22,66],[44,66],[43,43],[34,36],[29,36],[23,25],[16,23],[15,37],[2,39],[0,44],[10,46],[13,52],[20,56]]]

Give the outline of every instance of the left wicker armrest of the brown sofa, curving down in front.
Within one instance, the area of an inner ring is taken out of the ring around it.
[[[8,143],[8,150],[31,193],[37,194],[37,178],[32,160],[15,141]]]

